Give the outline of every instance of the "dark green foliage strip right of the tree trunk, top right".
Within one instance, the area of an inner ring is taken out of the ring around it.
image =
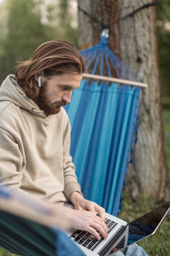
[[[170,0],[157,1],[156,13],[161,92],[170,97]]]

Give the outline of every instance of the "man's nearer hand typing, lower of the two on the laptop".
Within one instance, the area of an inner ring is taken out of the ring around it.
[[[88,231],[93,236],[95,236],[98,240],[101,239],[96,229],[104,236],[104,238],[108,237],[108,228],[100,217],[98,217],[95,213],[91,211],[79,211],[67,208],[68,211],[68,224],[79,230]]]

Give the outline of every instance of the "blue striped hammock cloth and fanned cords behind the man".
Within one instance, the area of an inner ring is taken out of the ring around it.
[[[100,69],[103,75],[106,64],[109,76],[114,68],[119,78],[120,72],[127,79],[135,78],[107,47],[105,36],[99,45],[81,54],[92,74]],[[88,82],[82,80],[73,92],[71,103],[64,107],[72,127],[71,155],[84,197],[117,216],[128,158],[131,152],[132,162],[133,143],[137,141],[141,89],[115,83],[108,86],[101,81],[91,81],[88,85]]]

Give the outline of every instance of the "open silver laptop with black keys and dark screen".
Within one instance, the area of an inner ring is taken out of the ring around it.
[[[92,234],[82,230],[74,230],[69,234],[69,237],[88,256],[113,255],[116,253],[112,253],[114,248],[121,250],[153,235],[169,209],[170,202],[163,204],[130,223],[106,213],[105,223],[108,227],[107,239],[104,239],[98,231],[101,240],[97,240]]]

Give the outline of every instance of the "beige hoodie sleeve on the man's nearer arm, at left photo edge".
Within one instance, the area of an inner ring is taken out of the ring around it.
[[[17,141],[9,132],[0,128],[0,187],[6,186],[9,191],[17,191],[20,196],[42,202],[20,189],[23,168],[22,154]]]

